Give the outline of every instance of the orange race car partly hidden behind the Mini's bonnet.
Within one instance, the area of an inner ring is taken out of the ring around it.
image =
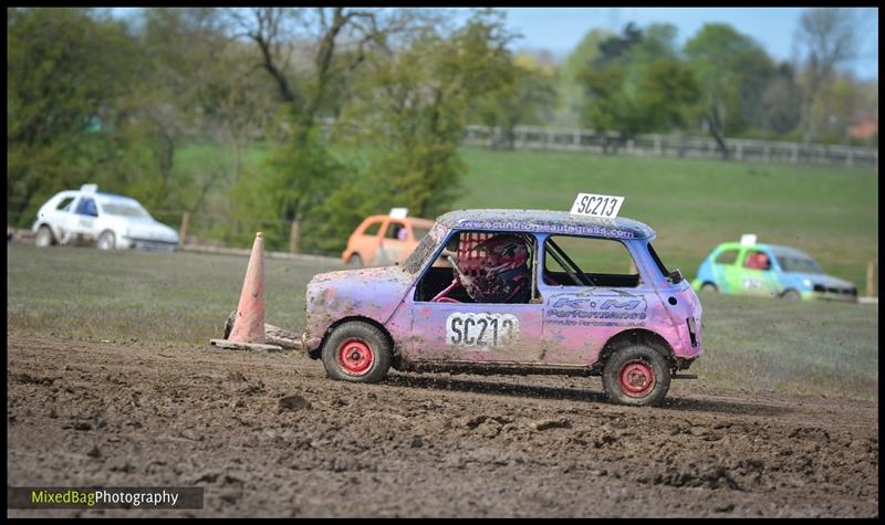
[[[402,263],[433,225],[434,221],[417,217],[366,217],[351,234],[341,258],[352,266]]]

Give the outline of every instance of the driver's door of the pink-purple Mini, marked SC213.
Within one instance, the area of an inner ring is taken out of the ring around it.
[[[441,258],[435,258],[434,263]],[[428,264],[417,288],[423,287],[421,280],[428,279],[441,290],[452,281],[454,272],[450,266]],[[408,301],[413,316],[407,347],[410,360],[504,365],[541,360],[543,304],[433,302],[418,294],[410,294]]]

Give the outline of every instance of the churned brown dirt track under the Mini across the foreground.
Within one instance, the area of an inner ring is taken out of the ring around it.
[[[8,334],[9,486],[202,485],[204,511],[10,516],[877,516],[877,403]],[[289,397],[287,400],[282,398]]]

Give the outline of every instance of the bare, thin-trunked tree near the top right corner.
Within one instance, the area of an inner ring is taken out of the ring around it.
[[[814,8],[802,13],[794,45],[802,67],[802,139],[818,132],[815,112],[839,69],[857,57],[858,20],[847,8]]]

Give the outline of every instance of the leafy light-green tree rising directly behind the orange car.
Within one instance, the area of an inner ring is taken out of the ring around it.
[[[324,238],[341,244],[363,217],[392,207],[430,218],[449,209],[460,191],[466,117],[509,82],[489,72],[512,66],[510,38],[481,11],[451,34],[427,28],[404,49],[366,57],[336,124],[343,141],[358,145],[362,165],[322,204]]]

